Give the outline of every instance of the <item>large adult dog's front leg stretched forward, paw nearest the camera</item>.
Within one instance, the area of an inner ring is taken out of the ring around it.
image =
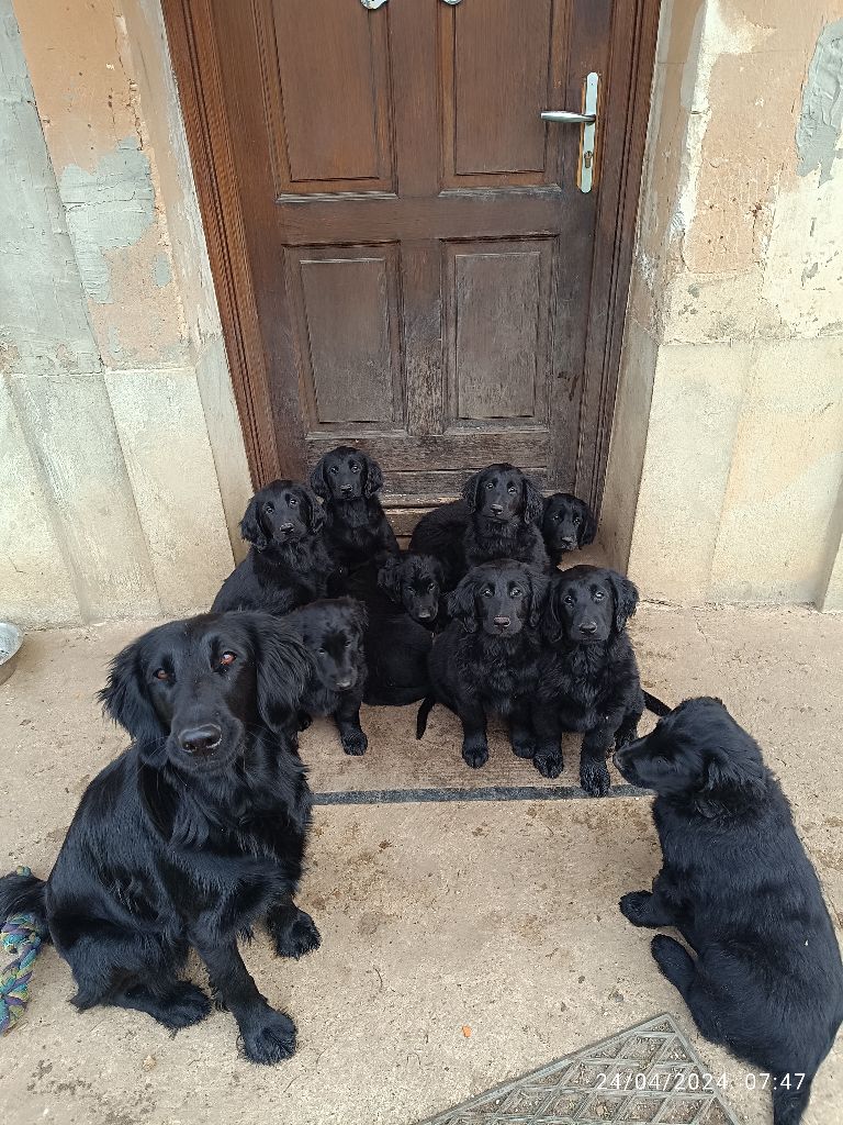
[[[192,940],[214,991],[237,1020],[246,1058],[261,1063],[289,1059],[296,1050],[296,1025],[257,991],[235,937],[215,938],[202,933]]]

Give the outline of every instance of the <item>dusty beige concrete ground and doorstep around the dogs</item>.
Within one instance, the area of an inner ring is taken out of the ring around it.
[[[109,656],[147,626],[27,637],[0,686],[4,870],[48,872],[85,784],[124,745],[92,695]],[[843,619],[644,604],[633,627],[646,686],[670,701],[718,694],[760,740],[840,922]],[[487,768],[470,773],[451,717],[434,712],[418,744],[413,714],[370,712],[362,759],[315,724],[302,744],[314,789],[541,782],[500,737]],[[562,781],[573,781],[570,766]],[[26,1018],[0,1045],[0,1112],[16,1125],[401,1125],[669,1011],[728,1076],[738,1118],[769,1122],[768,1098],[696,1035],[655,971],[650,935],[617,910],[658,864],[644,798],[318,808],[300,901],[321,950],[298,964],[275,961],[263,938],[245,952],[259,987],[298,1024],[292,1060],[246,1063],[226,1014],[174,1037],[135,1012],[79,1015],[65,1004],[70,972],[47,948]],[[839,1043],[807,1125],[839,1125],[842,1083]]]

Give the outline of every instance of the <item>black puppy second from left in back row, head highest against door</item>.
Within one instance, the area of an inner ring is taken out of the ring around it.
[[[325,533],[336,561],[348,572],[398,555],[398,541],[375,495],[383,474],[371,457],[339,446],[325,453],[310,474],[310,486],[325,501]]]

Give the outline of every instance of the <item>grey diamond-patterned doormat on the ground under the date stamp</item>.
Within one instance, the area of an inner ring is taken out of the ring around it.
[[[738,1125],[716,1080],[656,1016],[420,1125]]]

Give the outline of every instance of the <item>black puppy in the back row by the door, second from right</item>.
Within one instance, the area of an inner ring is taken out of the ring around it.
[[[410,550],[438,558],[448,586],[472,567],[514,559],[546,569],[538,528],[544,500],[536,483],[514,465],[489,465],[465,482],[462,501],[422,516]],[[462,532],[462,533],[460,533]]]

